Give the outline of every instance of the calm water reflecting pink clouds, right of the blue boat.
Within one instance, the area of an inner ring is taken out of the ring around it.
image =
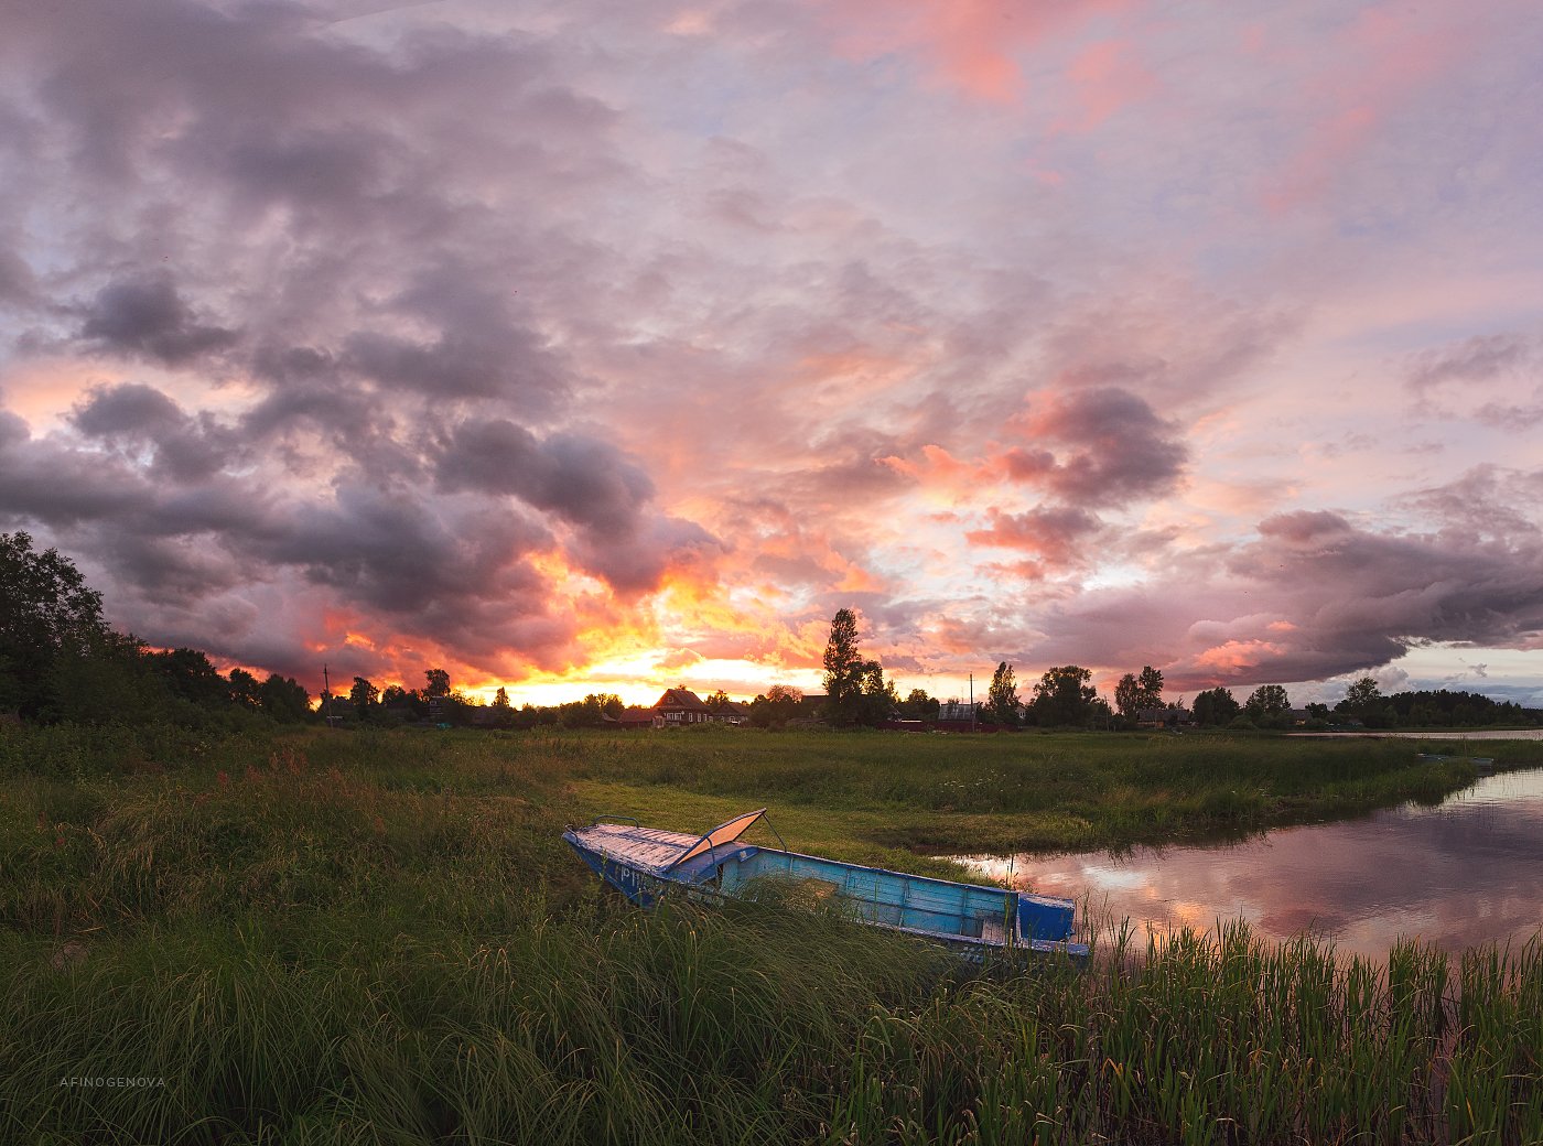
[[[967,856],[1018,887],[1159,933],[1250,919],[1271,939],[1325,935],[1384,956],[1400,936],[1449,952],[1543,925],[1543,768],[1489,776],[1438,807],[1279,828],[1242,844],[1043,856]]]

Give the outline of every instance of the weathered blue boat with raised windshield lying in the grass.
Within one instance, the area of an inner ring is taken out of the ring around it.
[[[741,841],[765,811],[747,811],[702,836],[645,828],[630,816],[602,816],[589,827],[569,827],[563,839],[600,879],[639,907],[653,907],[671,893],[708,901],[736,898],[751,881],[788,879],[833,898],[861,922],[932,939],[974,959],[988,952],[1088,958],[1088,944],[1072,942],[1071,899],[841,864],[788,851],[785,844],[768,848]]]

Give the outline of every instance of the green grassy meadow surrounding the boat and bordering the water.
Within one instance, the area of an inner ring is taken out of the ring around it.
[[[1543,1143],[1543,939],[967,967],[795,898],[637,912],[560,839],[767,805],[793,848],[954,873],[1472,779],[1420,748],[0,728],[0,1140]]]

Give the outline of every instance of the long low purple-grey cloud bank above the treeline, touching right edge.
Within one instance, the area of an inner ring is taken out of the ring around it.
[[[1429,642],[1538,648],[1543,541],[1531,527],[1484,540],[1278,514],[1248,544],[1170,560],[1139,589],[1083,594],[1046,625],[1046,660],[1160,663],[1177,689],[1322,680]]]

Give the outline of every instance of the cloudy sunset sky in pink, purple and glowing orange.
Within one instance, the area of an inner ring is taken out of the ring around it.
[[[0,529],[154,646],[1543,705],[1534,0],[0,28]]]

